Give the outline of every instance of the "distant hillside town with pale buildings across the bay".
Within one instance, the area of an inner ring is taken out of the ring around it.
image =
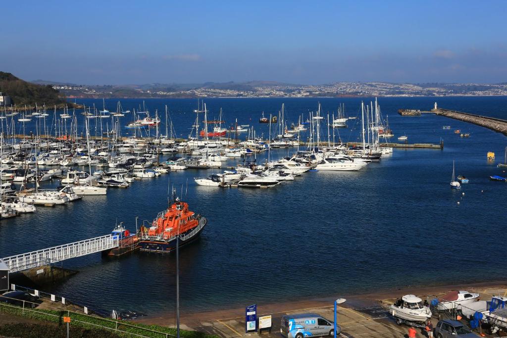
[[[336,82],[323,85],[295,85],[269,81],[204,84],[77,85],[32,81],[51,85],[69,98],[102,97],[355,97],[355,96],[488,96],[507,95],[507,83],[500,84],[394,84],[384,82]]]

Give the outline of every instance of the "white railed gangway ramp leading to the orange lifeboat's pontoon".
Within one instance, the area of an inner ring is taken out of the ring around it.
[[[39,268],[65,259],[81,257],[95,252],[101,252],[118,247],[118,235],[104,235],[85,239],[79,242],[68,243],[51,248],[31,251],[2,258],[10,272],[19,272]]]

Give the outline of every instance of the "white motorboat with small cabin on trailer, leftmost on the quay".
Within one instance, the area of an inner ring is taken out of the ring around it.
[[[389,313],[398,322],[409,321],[424,323],[431,318],[431,311],[422,303],[422,299],[413,294],[399,298],[389,307]]]

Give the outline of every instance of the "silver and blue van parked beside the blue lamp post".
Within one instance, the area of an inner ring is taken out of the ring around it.
[[[337,325],[336,334],[341,331]],[[333,322],[328,321],[314,313],[302,313],[297,315],[285,315],[282,317],[280,333],[285,338],[304,338],[307,336],[331,336],[335,335]]]

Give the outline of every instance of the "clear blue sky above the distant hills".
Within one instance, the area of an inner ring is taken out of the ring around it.
[[[507,81],[507,1],[6,1],[0,70],[79,84]]]

